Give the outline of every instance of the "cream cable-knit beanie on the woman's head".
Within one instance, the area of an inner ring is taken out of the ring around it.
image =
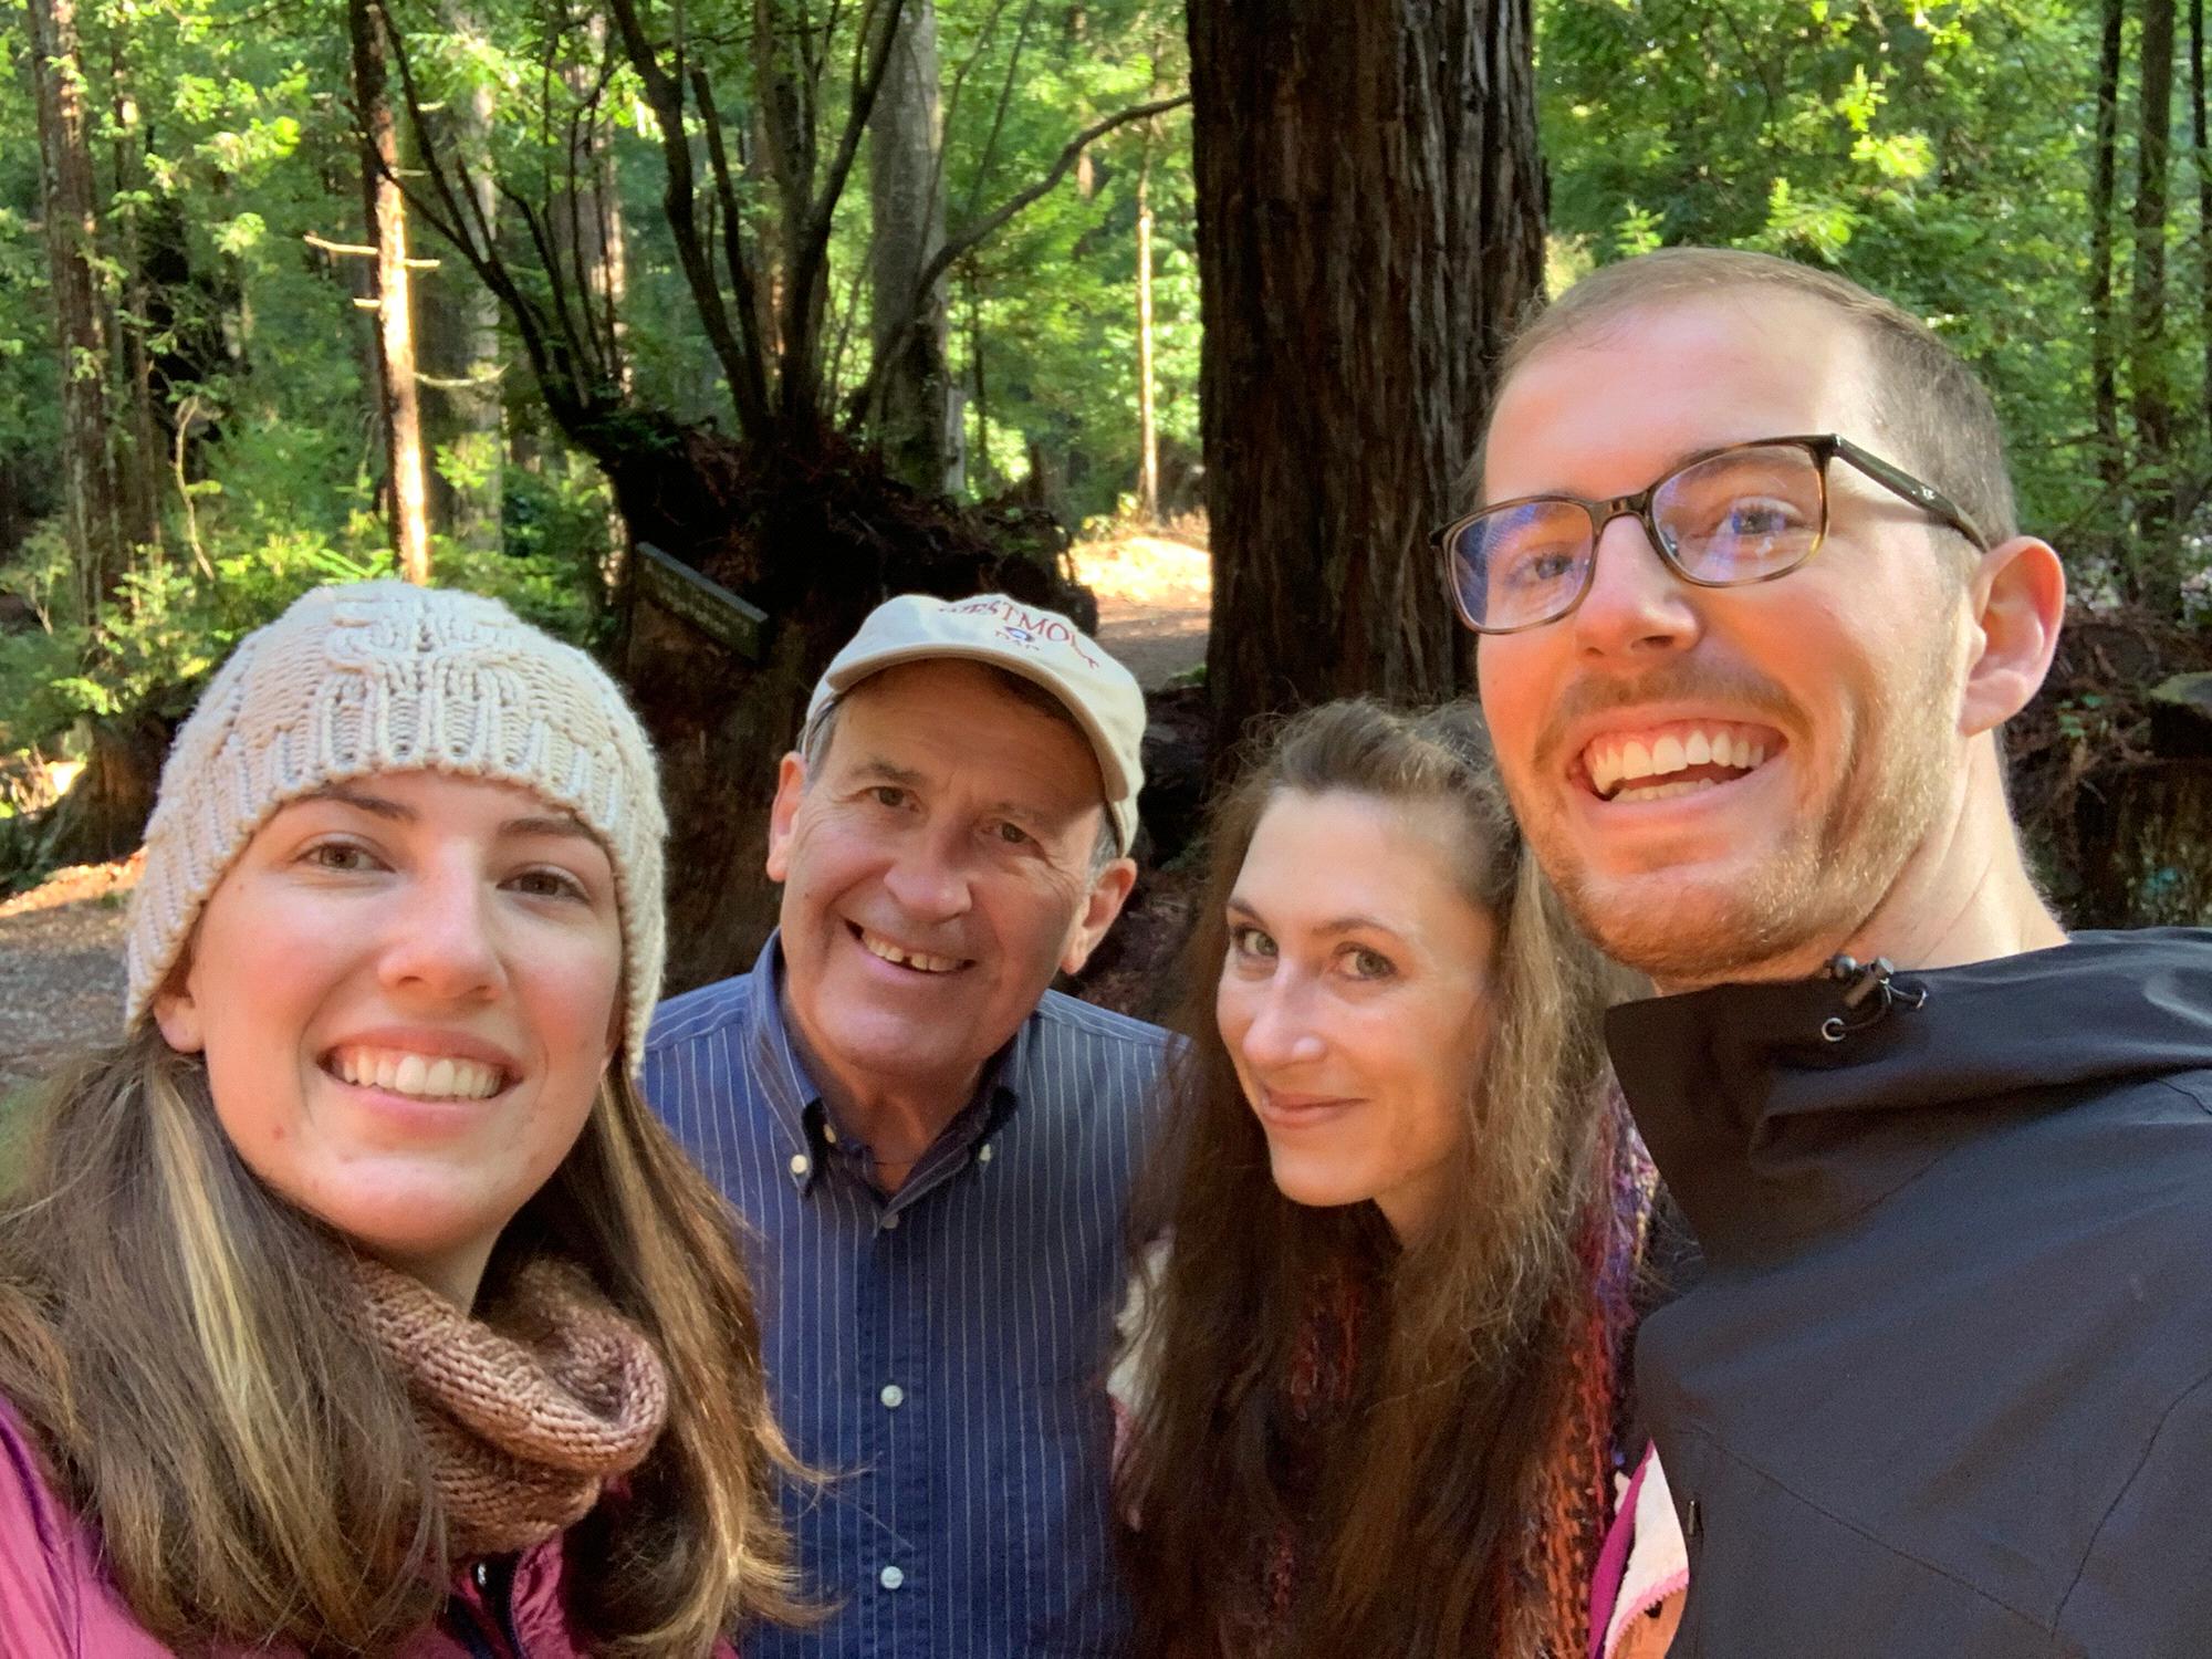
[[[239,641],[161,768],[131,900],[131,998],[146,1018],[199,907],[276,807],[372,772],[456,772],[535,790],[606,847],[622,909],[630,1073],[661,991],[661,812],[653,745],[615,681],[498,599],[407,582],[314,588]]]

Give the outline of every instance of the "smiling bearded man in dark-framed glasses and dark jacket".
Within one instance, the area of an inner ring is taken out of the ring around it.
[[[2212,1655],[2212,936],[2075,933],[2002,721],[2064,611],[1989,396],[1820,272],[1606,268],[1440,533],[1703,1276],[1639,1407],[1677,1655]]]

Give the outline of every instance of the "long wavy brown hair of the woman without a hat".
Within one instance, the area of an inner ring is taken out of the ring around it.
[[[1261,814],[1327,792],[1447,805],[1460,887],[1498,927],[1495,1024],[1451,1199],[1405,1248],[1374,1203],[1316,1210],[1276,1190],[1214,1022],[1225,905]],[[1506,1564],[1568,1394],[1608,969],[1522,845],[1469,703],[1338,701],[1290,719],[1206,845],[1181,962],[1188,1048],[1135,1206],[1148,1294],[1119,1504],[1135,1522],[1139,1652],[1219,1659],[1223,1632],[1250,1628],[1281,1544],[1301,1588],[1287,1628],[1259,1610],[1270,1659],[1517,1655]],[[1340,1285],[1363,1296],[1349,1398],[1307,1422],[1292,1374],[1316,1301]]]

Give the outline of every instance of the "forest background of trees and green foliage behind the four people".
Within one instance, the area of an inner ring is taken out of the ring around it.
[[[2203,0],[0,18],[7,887],[135,845],[241,633],[405,573],[624,675],[697,982],[765,927],[765,757],[869,604],[1084,615],[1068,535],[1161,520],[1214,557],[1203,677],[1155,703],[1172,856],[1250,714],[1469,684],[1422,538],[1489,354],[1697,241],[1982,369],[2075,586],[2011,730],[2042,872],[2077,920],[2212,918]]]

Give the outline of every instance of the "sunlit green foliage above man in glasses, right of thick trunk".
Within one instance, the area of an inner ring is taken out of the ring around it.
[[[1584,259],[1663,243],[1761,248],[1838,270],[1920,314],[1991,383],[2028,526],[2097,588],[2132,493],[2097,469],[2090,409],[2095,4],[1944,0],[1540,7],[1553,232]],[[2185,42],[2183,42],[2185,49]],[[2137,119],[2121,88],[2117,314],[2128,307]],[[2172,108],[2174,365],[2203,361],[2197,157]],[[2185,367],[2199,456],[2205,398]],[[2201,557],[2199,557],[2201,564]]]

